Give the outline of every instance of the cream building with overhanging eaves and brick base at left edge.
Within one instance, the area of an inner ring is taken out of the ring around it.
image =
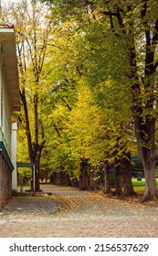
[[[20,111],[20,93],[14,26],[0,25],[0,207],[17,188],[16,130],[12,114]],[[15,170],[13,171],[15,167]],[[13,172],[12,172],[13,171]],[[13,184],[12,184],[13,174]]]

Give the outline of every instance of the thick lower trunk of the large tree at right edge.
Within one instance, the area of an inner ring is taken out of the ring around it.
[[[158,190],[156,187],[156,145],[155,145],[155,119],[146,117],[146,123],[142,124],[142,119],[135,119],[136,138],[139,154],[145,177],[145,193],[142,202],[147,200],[157,200]]]

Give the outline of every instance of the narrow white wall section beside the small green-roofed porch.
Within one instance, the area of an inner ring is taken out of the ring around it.
[[[12,190],[17,190],[17,170],[16,170],[16,138],[17,138],[17,123],[12,123],[12,163],[15,169],[12,172]]]

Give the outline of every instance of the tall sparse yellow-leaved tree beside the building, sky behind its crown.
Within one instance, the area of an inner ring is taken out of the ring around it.
[[[17,57],[20,78],[20,95],[23,106],[29,159],[36,163],[36,190],[39,189],[39,163],[46,143],[45,121],[42,106],[45,86],[42,70],[47,58],[47,41],[52,31],[49,10],[39,1],[22,0],[9,5],[4,21],[16,27]]]

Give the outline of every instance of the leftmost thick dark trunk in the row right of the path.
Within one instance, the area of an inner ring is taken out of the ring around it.
[[[88,160],[82,159],[80,163],[79,189],[88,190]]]

